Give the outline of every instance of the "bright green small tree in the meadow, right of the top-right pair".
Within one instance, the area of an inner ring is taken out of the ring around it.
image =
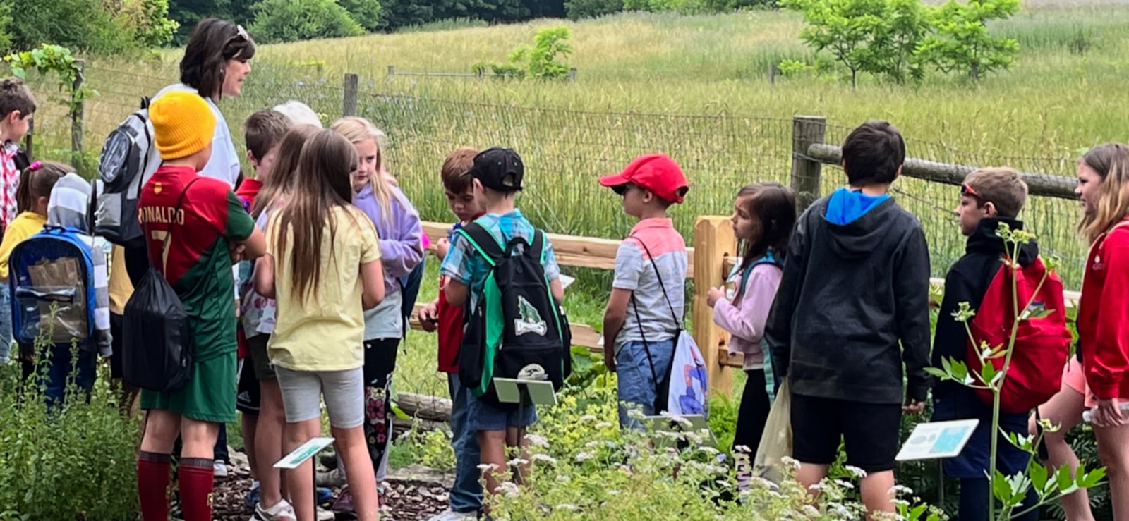
[[[916,52],[942,72],[966,71],[977,81],[983,73],[1009,68],[1019,54],[1015,38],[992,37],[987,24],[1018,11],[1019,0],[948,0],[934,12],[936,33]]]

